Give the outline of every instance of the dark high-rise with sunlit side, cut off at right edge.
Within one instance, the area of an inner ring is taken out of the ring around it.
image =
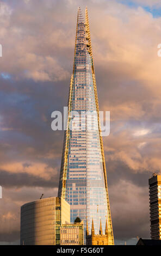
[[[161,239],[161,175],[148,180],[150,196],[151,239]]]

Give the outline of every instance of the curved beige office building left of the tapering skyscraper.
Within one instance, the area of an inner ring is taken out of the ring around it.
[[[60,225],[70,223],[70,205],[49,197],[21,206],[21,245],[60,245]]]

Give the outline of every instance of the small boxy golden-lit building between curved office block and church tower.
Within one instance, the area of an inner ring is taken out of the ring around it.
[[[83,222],[61,225],[60,245],[84,245]]]

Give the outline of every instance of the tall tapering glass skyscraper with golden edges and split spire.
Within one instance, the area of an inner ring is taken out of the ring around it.
[[[68,109],[58,196],[71,205],[71,222],[78,216],[91,227],[93,219],[97,234],[100,219],[105,230],[107,218],[109,245],[114,245],[87,9],[84,22],[78,8]]]

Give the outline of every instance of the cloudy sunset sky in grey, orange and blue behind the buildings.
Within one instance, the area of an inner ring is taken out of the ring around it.
[[[148,178],[160,172],[160,0],[0,0],[0,244],[20,243],[20,207],[57,196],[77,9],[88,6],[115,244],[150,238]]]

